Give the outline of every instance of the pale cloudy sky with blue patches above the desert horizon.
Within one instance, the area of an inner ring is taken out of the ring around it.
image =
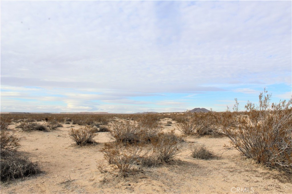
[[[1,1],[1,111],[241,110],[291,97],[291,1]]]

